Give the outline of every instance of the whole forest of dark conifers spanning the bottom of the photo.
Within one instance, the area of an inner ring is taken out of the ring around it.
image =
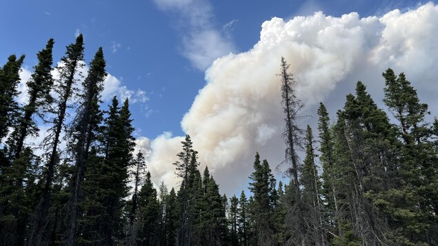
[[[281,57],[288,182],[255,152],[249,192],[228,198],[189,135],[172,163],[179,187],[156,187],[128,99],[101,108],[102,48],[81,78],[83,35],[62,65],[53,45],[37,53],[23,105],[24,55],[0,66],[0,245],[438,245],[438,119],[403,72],[382,73],[386,109],[361,81],[335,117],[320,103],[314,133]]]

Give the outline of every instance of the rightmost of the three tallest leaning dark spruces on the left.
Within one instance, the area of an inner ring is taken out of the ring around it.
[[[96,130],[101,122],[99,110],[100,92],[103,90],[103,80],[106,77],[106,62],[103,58],[103,50],[99,48],[94,59],[90,62],[88,76],[83,81],[83,94],[81,94],[81,105],[74,119],[70,135],[73,139],[70,142],[70,152],[74,158],[74,174],[70,181],[71,196],[68,201],[68,217],[66,218],[65,234],[66,245],[74,245],[74,238],[77,225],[77,207],[81,194],[83,178],[86,172],[86,161],[90,145],[96,139]]]

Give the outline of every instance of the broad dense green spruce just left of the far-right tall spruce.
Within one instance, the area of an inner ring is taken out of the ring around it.
[[[357,82],[356,97],[347,96],[346,105],[339,112],[339,147],[344,153],[346,172],[341,179],[350,183],[350,189],[344,189],[344,197],[348,203],[346,214],[352,232],[360,237],[363,243],[390,243],[386,240],[388,232],[386,221],[378,214],[378,203],[375,194],[384,196],[385,172],[393,170],[388,161],[390,149],[386,141],[390,141],[390,124],[386,114],[377,108],[366,87]],[[340,188],[341,189],[341,188]],[[374,204],[373,204],[374,203]],[[347,223],[347,224],[348,224]],[[347,225],[344,224],[344,225]],[[342,228],[342,225],[340,225]]]

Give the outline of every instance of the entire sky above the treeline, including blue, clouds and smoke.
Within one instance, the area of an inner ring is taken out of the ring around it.
[[[177,153],[192,136],[221,192],[248,186],[255,152],[284,156],[279,62],[291,64],[303,121],[320,101],[332,119],[363,81],[381,103],[388,67],[405,72],[438,114],[438,6],[419,1],[0,0],[0,65],[26,54],[20,90],[53,38],[54,62],[84,35],[85,60],[103,48],[103,107],[130,99],[137,149],[155,184],[177,185]],[[86,72],[87,68],[84,68]],[[26,101],[23,93],[19,101]],[[44,126],[42,126],[44,127]],[[316,130],[315,130],[316,132]],[[281,172],[275,172],[281,178]]]

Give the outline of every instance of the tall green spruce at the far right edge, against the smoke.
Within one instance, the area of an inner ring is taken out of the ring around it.
[[[402,181],[395,197],[406,205],[400,208],[404,213],[394,214],[397,231],[412,244],[436,242],[438,238],[433,235],[438,220],[437,152],[430,142],[431,132],[425,121],[428,105],[420,103],[417,91],[404,73],[396,76],[388,68],[382,75],[384,103],[399,122],[397,135],[403,141],[398,154]]]

